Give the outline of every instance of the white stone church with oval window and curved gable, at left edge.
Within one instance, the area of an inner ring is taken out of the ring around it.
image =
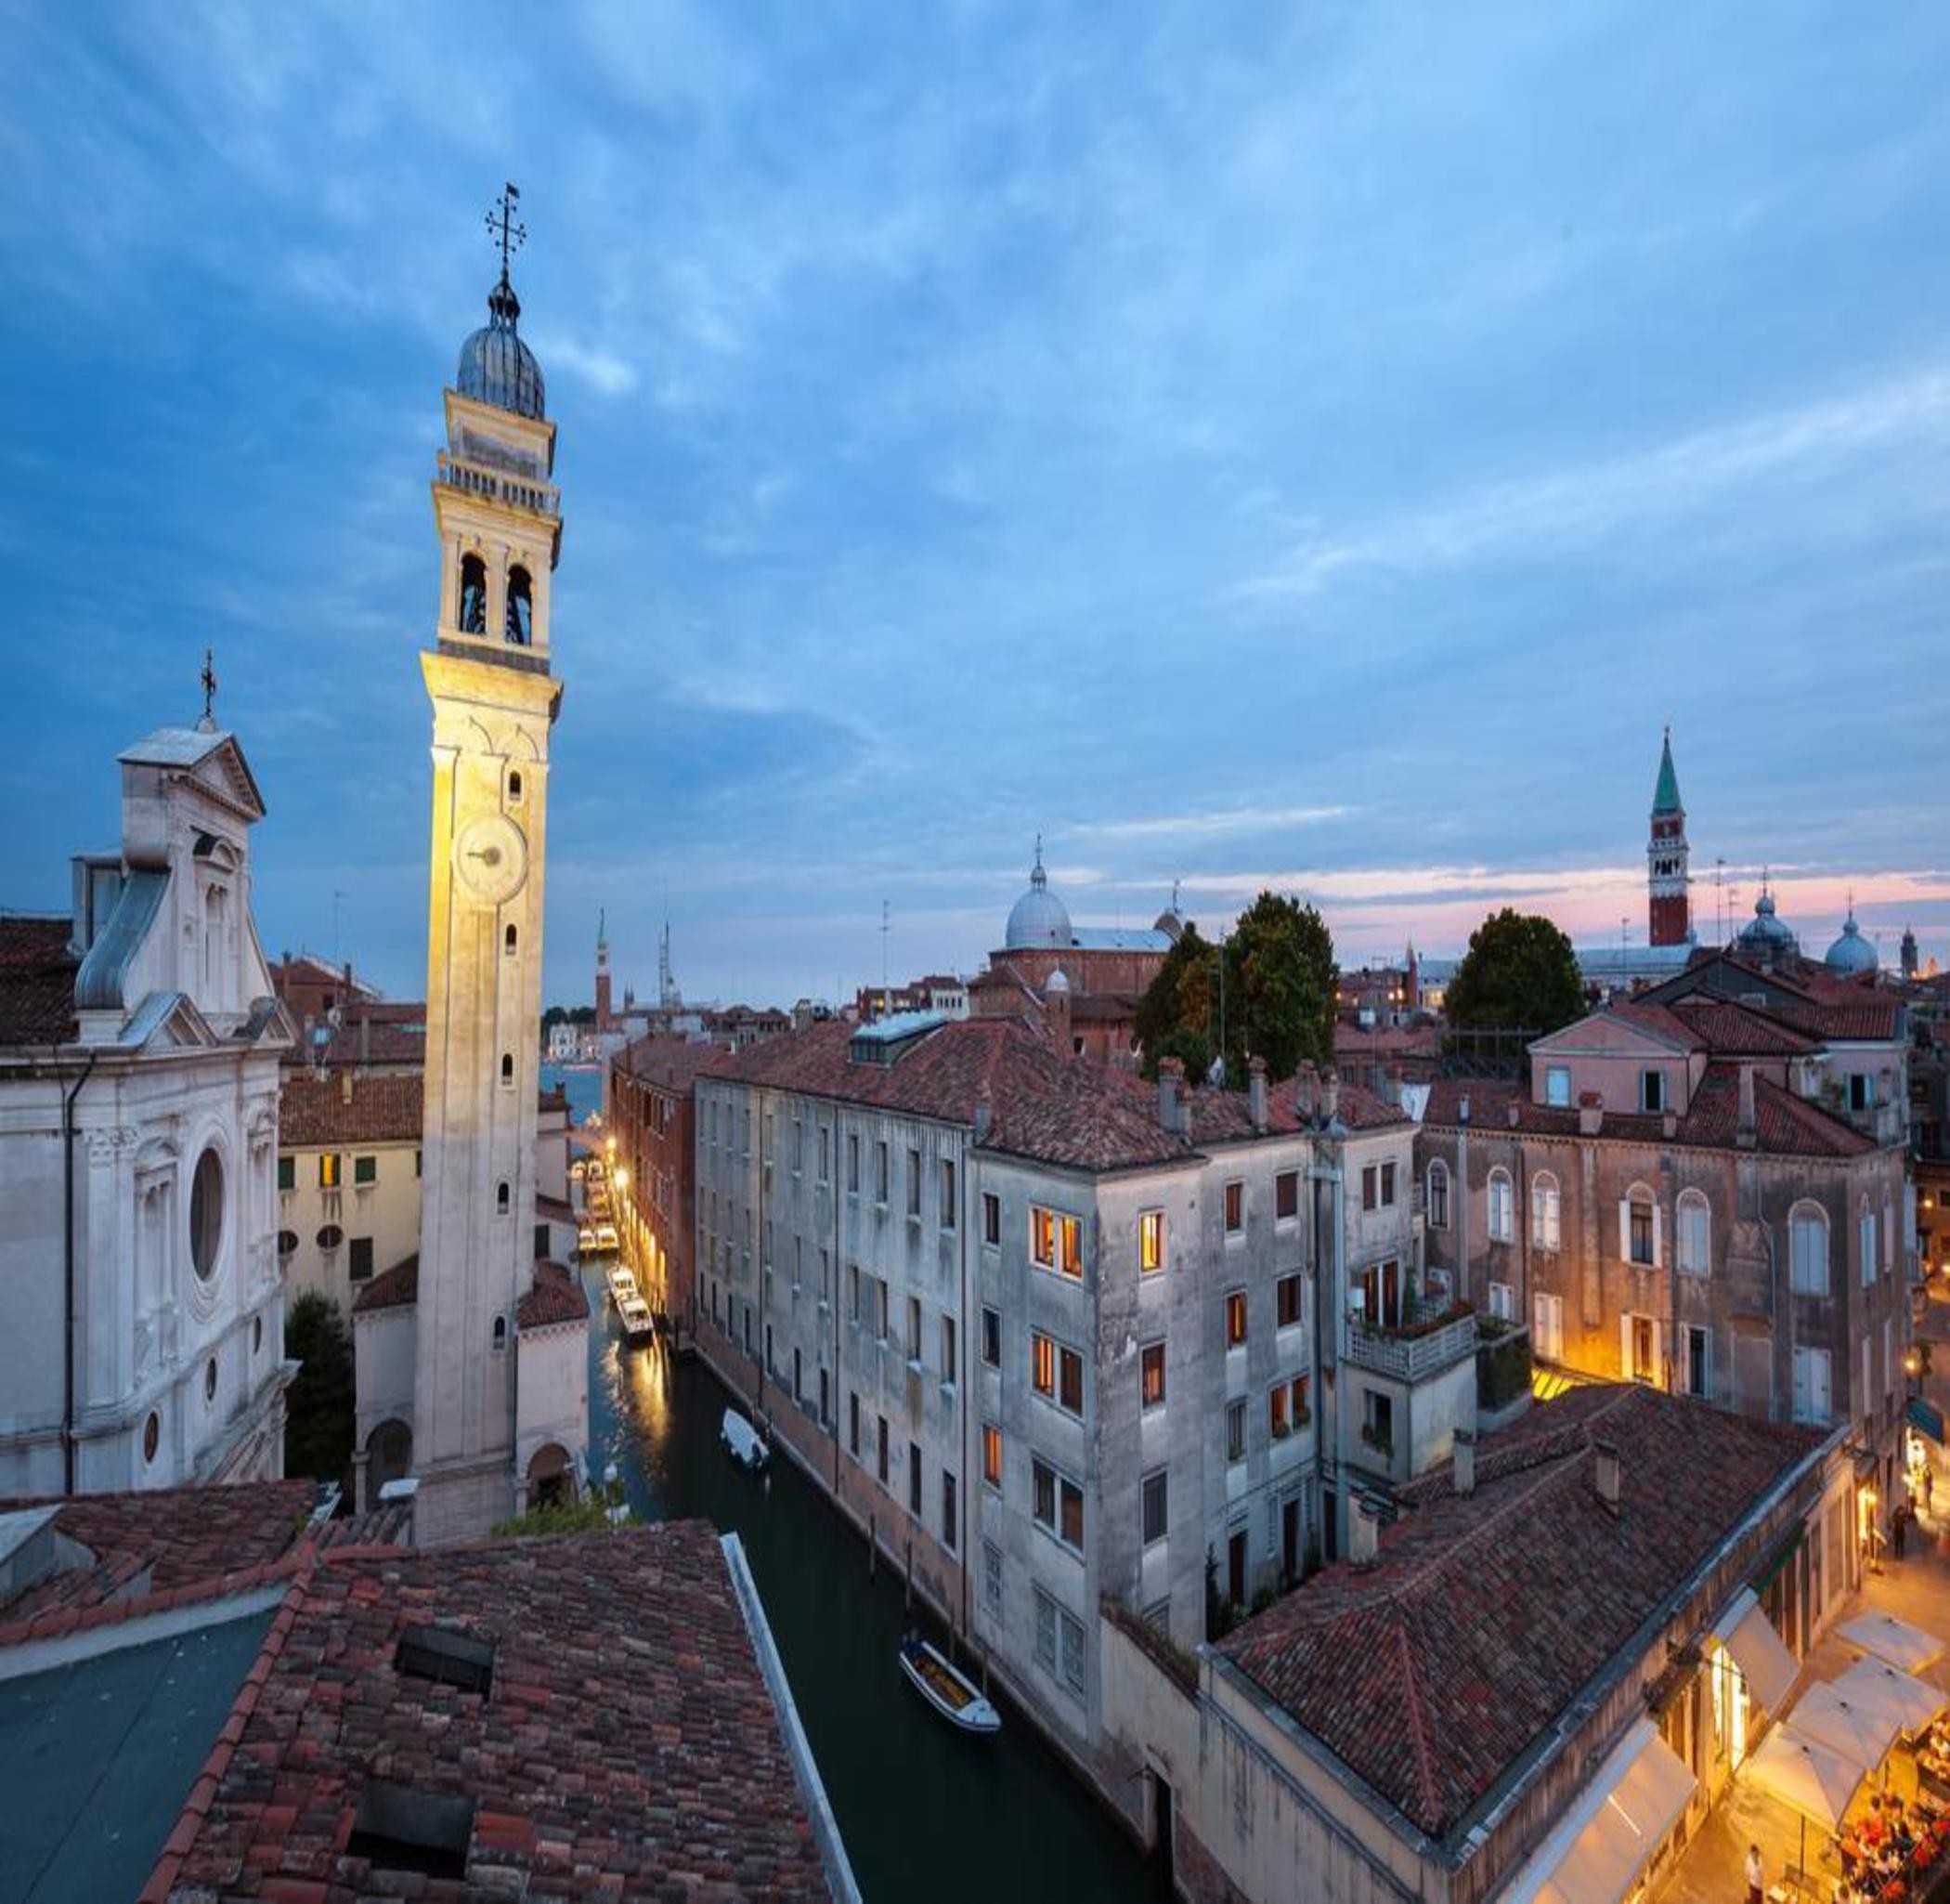
[[[209,714],[121,778],[72,909],[0,919],[0,1496],[285,1465],[263,800]]]

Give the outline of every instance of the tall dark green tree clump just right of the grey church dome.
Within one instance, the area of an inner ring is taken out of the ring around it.
[[[1186,1077],[1203,1079],[1221,1046],[1234,1091],[1248,1055],[1264,1057],[1273,1079],[1308,1059],[1332,1063],[1336,991],[1334,940],[1310,905],[1260,893],[1223,952],[1188,925],[1137,1007],[1145,1075],[1158,1075],[1160,1057],[1182,1057]]]

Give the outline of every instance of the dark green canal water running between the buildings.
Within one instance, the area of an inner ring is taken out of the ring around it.
[[[589,1436],[644,1520],[702,1516],[745,1543],[792,1697],[866,1904],[1152,1904],[1162,1877],[1002,1707],[965,1738],[901,1678],[901,1588],[782,1455],[753,1479],[718,1440],[725,1393],[696,1362],[622,1352],[589,1278]]]

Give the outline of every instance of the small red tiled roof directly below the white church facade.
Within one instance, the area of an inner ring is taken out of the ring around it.
[[[49,1615],[119,1604],[152,1611],[160,1596],[216,1598],[242,1576],[292,1555],[318,1490],[310,1481],[152,1488],[72,1500],[0,1500],[0,1512],[58,1506],[55,1531],[86,1547],[90,1563],[37,1580],[0,1606],[0,1643]]]

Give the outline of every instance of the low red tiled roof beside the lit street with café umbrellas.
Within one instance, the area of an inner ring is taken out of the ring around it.
[[[1593,1436],[1620,1455],[1597,1498]],[[1640,1385],[1574,1389],[1433,1481],[1219,1650],[1416,1828],[1449,1836],[1821,1432]]]

